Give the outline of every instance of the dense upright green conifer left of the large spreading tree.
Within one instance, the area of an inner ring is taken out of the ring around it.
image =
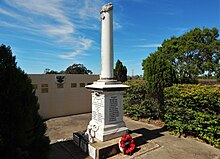
[[[147,81],[147,98],[154,103],[155,107],[161,110],[162,117],[164,105],[163,89],[177,82],[175,70],[160,52],[151,54],[143,61],[142,66],[144,79]]]

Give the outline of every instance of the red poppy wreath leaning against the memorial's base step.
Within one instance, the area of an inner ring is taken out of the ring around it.
[[[119,140],[119,149],[126,155],[131,155],[134,152],[135,144],[132,137],[128,134],[125,134]]]

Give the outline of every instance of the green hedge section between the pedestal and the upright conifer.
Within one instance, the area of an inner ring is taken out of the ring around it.
[[[146,84],[143,81],[126,82],[130,88],[124,98],[124,113],[137,120],[139,118],[158,118],[159,110],[148,98]]]

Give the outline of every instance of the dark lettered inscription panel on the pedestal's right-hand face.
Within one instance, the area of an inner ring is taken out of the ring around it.
[[[112,96],[109,99],[109,122],[117,121],[117,117],[119,117],[118,98]]]

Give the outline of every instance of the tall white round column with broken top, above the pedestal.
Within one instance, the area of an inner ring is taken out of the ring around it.
[[[100,12],[101,14],[101,80],[112,80],[113,74],[113,5],[105,4]]]

